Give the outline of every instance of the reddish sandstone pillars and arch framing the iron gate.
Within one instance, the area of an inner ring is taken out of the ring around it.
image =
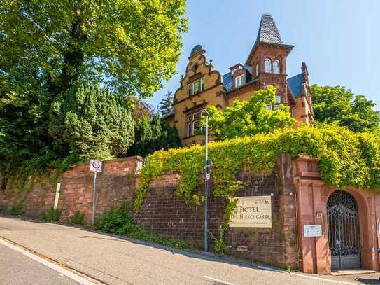
[[[331,252],[328,239],[328,198],[337,190],[328,186],[318,172],[318,160],[294,161],[297,204],[297,235],[303,272],[329,274]],[[374,190],[345,189],[358,206],[361,267],[379,271],[380,195]],[[304,237],[304,225],[321,225],[321,237]]]

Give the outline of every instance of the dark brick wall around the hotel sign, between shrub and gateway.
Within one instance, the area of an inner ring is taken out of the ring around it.
[[[233,256],[257,260],[273,265],[297,263],[297,228],[291,160],[283,155],[279,172],[255,174],[242,172],[237,179],[244,188],[237,196],[272,195],[272,228],[230,228],[225,235]],[[178,174],[167,174],[150,183],[146,200],[134,221],[159,235],[185,239],[202,247],[203,207],[185,207],[181,197],[176,197]],[[201,185],[198,191],[203,191]],[[226,201],[219,197],[209,199],[209,230],[218,234],[223,222]]]

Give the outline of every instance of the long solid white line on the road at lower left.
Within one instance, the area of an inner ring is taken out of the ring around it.
[[[3,239],[0,239],[0,244],[2,244],[3,246],[7,246],[10,249],[13,249],[14,251],[22,253],[24,256],[27,256],[27,257],[29,257],[29,258],[37,261],[38,263],[41,263],[41,264],[43,264],[43,265],[51,268],[52,270],[55,270],[55,271],[59,272],[60,274],[66,276],[66,277],[69,277],[70,279],[73,279],[74,281],[78,282],[79,284],[82,284],[82,285],[95,285],[92,281],[87,280],[87,279],[85,279],[83,277],[80,277],[77,274],[74,274],[73,272],[71,272],[69,270],[66,270],[66,269],[64,269],[62,267],[59,267],[58,265],[55,265],[54,263],[51,263],[48,260],[45,260],[45,259],[43,259],[43,258],[41,258],[39,256],[36,256],[33,253],[30,253],[29,251],[26,251],[25,249],[22,249],[22,248],[20,248],[18,246],[10,244],[9,242],[6,242]]]

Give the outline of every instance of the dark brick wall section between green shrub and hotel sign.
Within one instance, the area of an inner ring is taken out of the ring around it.
[[[186,207],[183,198],[175,194],[178,182],[179,175],[176,173],[167,174],[160,180],[152,181],[141,210],[134,215],[134,221],[158,235],[187,240],[202,247],[203,204]],[[202,189],[201,186],[197,191],[202,191]],[[219,225],[223,223],[225,202],[221,198],[209,198],[209,230],[214,235]]]

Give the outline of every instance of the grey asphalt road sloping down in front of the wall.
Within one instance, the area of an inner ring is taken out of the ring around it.
[[[315,279],[319,278],[315,275],[310,279],[300,276],[300,274],[260,270],[253,263],[241,263],[238,260],[226,260],[213,255],[204,256],[187,251],[176,251],[154,244],[101,235],[80,228],[21,221],[14,218],[0,217],[1,237],[25,246],[73,270],[83,272],[87,277],[104,284],[314,285],[339,284],[338,281],[344,280],[336,279],[335,282],[332,282],[331,279]],[[5,263],[1,267],[7,268],[6,272],[8,273],[4,276],[8,276],[6,278],[10,281],[12,272],[25,270],[19,270],[18,265],[17,267],[13,265],[18,264],[17,260],[20,256],[17,254],[12,256],[12,253],[8,251],[6,254],[8,254],[7,258],[2,258],[1,254],[1,262]],[[45,272],[47,275],[37,271],[28,273],[33,275],[34,282],[32,284],[38,284],[35,280],[41,281],[40,278],[48,278],[50,276],[48,272]],[[10,277],[9,274],[11,274]],[[22,279],[17,279],[23,278],[22,274],[17,276],[19,275],[15,274],[15,282],[10,284],[28,284],[22,283]],[[59,278],[62,279],[62,277]],[[19,280],[20,282],[17,283]],[[29,279],[25,277],[25,280]],[[4,284],[1,279],[0,284]],[[41,281],[40,284],[49,283]],[[364,282],[346,284],[364,284]]]

